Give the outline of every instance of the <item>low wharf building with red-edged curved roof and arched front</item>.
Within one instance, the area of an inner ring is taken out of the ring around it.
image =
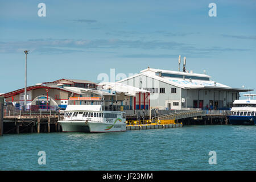
[[[27,87],[26,110],[65,109],[71,97],[103,97],[109,101],[106,110],[134,109],[134,98],[144,94],[143,105],[148,109],[149,92],[133,86],[104,82],[96,84],[88,80],[60,79]],[[1,94],[5,104],[15,106],[15,110],[24,109],[24,88]],[[93,103],[92,103],[93,104]],[[147,106],[146,106],[147,105]]]

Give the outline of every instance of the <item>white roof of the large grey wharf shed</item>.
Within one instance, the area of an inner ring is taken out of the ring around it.
[[[172,73],[177,75],[187,75],[194,77],[203,77],[210,78],[208,75],[197,74],[197,73],[184,73],[184,72],[176,72],[176,71],[166,71],[163,69],[152,69],[147,68],[138,73],[137,75],[133,75],[131,77],[125,78],[123,80],[117,81],[118,83],[129,80],[130,78],[134,78],[140,75],[144,75],[147,77],[154,78],[155,80],[159,80],[162,82],[166,82],[167,84],[176,86],[182,89],[210,89],[210,90],[226,90],[226,91],[234,91],[234,92],[248,92],[253,91],[251,89],[240,89],[240,88],[231,88],[230,86],[220,84],[219,82],[215,82],[212,80],[200,80],[200,79],[188,79],[188,78],[180,78],[180,77],[166,77],[166,76],[156,76],[156,73]]]

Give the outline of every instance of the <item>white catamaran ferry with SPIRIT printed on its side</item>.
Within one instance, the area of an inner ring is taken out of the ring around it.
[[[63,132],[102,133],[126,131],[123,111],[104,110],[100,97],[72,97],[59,121]]]

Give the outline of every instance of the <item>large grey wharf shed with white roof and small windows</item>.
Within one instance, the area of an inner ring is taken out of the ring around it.
[[[239,100],[240,92],[253,91],[231,88],[210,80],[208,75],[193,73],[193,71],[168,71],[149,67],[137,75],[118,81],[118,83],[150,91],[151,108],[168,110],[230,109],[234,100]],[[141,96],[137,96],[137,101],[138,97]],[[142,108],[143,106],[138,104],[137,109]]]

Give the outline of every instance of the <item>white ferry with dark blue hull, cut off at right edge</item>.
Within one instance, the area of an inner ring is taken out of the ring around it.
[[[229,116],[231,125],[256,125],[256,94],[245,94],[245,100],[235,100]]]

